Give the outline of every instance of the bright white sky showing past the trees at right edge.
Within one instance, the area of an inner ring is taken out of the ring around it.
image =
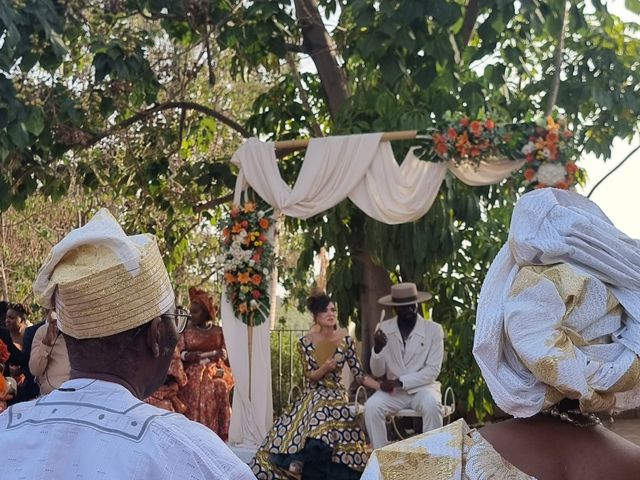
[[[609,10],[619,15],[624,21],[640,23],[640,17],[626,10],[624,3],[622,0],[610,1],[608,2]],[[598,180],[618,165],[639,144],[639,137],[634,138],[631,143],[618,140],[613,143],[611,158],[609,159],[597,159],[593,155],[585,155],[581,158],[578,165],[587,170],[589,180],[585,188],[578,188],[578,192],[587,195]],[[589,197],[598,204],[618,229],[633,238],[640,238],[639,181],[640,151],[629,158]]]

